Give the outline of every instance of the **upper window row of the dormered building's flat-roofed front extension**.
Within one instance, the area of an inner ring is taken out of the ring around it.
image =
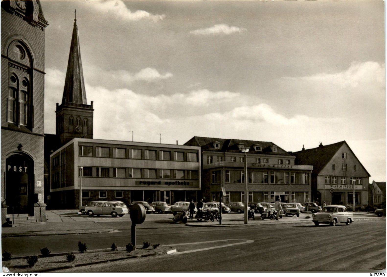
[[[249,171],[249,184],[308,184],[308,173],[290,173],[276,171]],[[212,172],[212,184],[221,183],[221,170]],[[226,170],[226,183],[244,183],[245,172],[243,170]]]

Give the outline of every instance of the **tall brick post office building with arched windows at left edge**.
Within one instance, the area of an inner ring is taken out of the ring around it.
[[[46,220],[43,203],[45,28],[39,1],[2,1],[2,224]],[[8,216],[7,216],[8,215]]]

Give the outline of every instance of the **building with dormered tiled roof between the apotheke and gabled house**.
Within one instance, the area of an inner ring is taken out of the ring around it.
[[[296,165],[290,155],[272,142],[193,137],[185,145],[200,146],[202,193],[206,201],[244,202],[245,153],[248,147],[248,202],[305,202],[310,198],[311,165]]]

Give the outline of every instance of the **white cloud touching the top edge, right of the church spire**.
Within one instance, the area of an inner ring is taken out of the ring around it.
[[[92,1],[91,7],[98,10],[99,12],[103,12],[105,15],[112,15],[124,21],[140,21],[141,19],[151,19],[154,22],[158,22],[163,20],[165,17],[164,14],[150,14],[144,10],[137,10],[132,12],[121,0]]]

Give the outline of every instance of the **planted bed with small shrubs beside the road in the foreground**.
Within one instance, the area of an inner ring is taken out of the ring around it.
[[[60,268],[79,267],[83,265],[91,265],[93,263],[113,262],[115,260],[125,260],[130,258],[140,258],[146,256],[165,254],[171,250],[168,246],[159,246],[156,249],[152,247],[142,248],[137,246],[137,249],[128,253],[125,247],[119,247],[117,251],[111,249],[92,250],[85,253],[73,253],[75,260],[68,262],[66,255],[68,253],[51,254],[48,257],[39,256],[38,262],[29,267],[26,257],[12,258],[9,261],[3,261],[3,267],[7,267],[10,272],[48,272]]]

